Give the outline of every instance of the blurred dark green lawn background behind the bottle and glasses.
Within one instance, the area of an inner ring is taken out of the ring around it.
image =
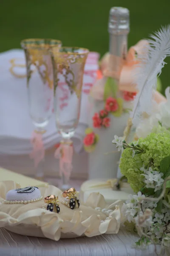
[[[108,14],[113,6],[130,10],[129,47],[170,23],[170,0],[1,0],[0,52],[20,48],[23,38],[55,38],[65,46],[103,55],[108,51]],[[170,60],[166,61],[162,93],[170,85]]]

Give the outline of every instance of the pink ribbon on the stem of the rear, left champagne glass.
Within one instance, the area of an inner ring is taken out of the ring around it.
[[[45,157],[45,149],[42,141],[42,134],[36,133],[34,131],[31,137],[31,144],[33,145],[33,150],[29,156],[31,159],[34,159],[34,167],[37,168],[38,164]]]

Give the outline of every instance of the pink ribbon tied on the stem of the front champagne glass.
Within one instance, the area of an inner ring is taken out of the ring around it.
[[[59,176],[62,177],[63,174],[69,180],[73,169],[73,143],[61,142],[54,152],[54,157],[59,159]]]

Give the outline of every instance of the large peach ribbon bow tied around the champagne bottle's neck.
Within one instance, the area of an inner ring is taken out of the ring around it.
[[[133,81],[133,71],[136,64],[140,61],[136,56],[141,54],[147,54],[148,42],[146,40],[139,41],[136,45],[130,47],[127,57],[122,59],[118,56],[111,54],[105,54],[101,61],[101,68],[104,77],[98,80],[94,87],[92,87],[91,95],[98,100],[103,100],[105,77],[113,77],[119,81],[119,90],[128,92],[138,92],[136,85]],[[159,92],[155,92],[155,101],[157,103],[166,101],[164,96]]]

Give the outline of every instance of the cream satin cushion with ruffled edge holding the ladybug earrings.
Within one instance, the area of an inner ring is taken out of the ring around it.
[[[6,193],[19,188],[14,181],[0,182],[0,227],[26,236],[47,237],[58,241],[60,238],[78,236],[97,236],[103,233],[118,233],[124,221],[121,215],[123,202],[117,201],[106,209],[104,197],[99,193],[91,193],[85,204],[79,209],[69,209],[59,204],[60,214],[42,209],[43,200],[29,204],[3,204]],[[40,188],[41,195],[58,195],[61,201],[62,192],[55,186]],[[101,209],[95,209],[100,207]],[[108,217],[109,209],[110,216]]]

